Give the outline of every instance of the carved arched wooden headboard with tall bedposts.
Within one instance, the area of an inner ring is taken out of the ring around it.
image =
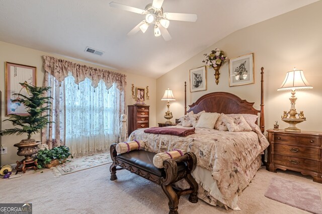
[[[187,111],[187,85],[185,82],[185,114],[193,111],[218,112],[224,114],[256,114],[260,113],[260,128],[265,131],[264,118],[264,68],[261,68],[261,110],[253,107],[254,103],[242,100],[234,94],[228,92],[212,92],[201,96],[196,102],[189,105]]]

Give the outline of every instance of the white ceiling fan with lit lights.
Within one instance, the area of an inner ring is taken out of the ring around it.
[[[150,25],[154,25],[154,36],[163,36],[166,41],[171,40],[171,36],[167,30],[169,27],[169,20],[185,21],[185,22],[196,22],[196,14],[179,14],[179,13],[163,13],[164,0],[153,0],[152,3],[145,6],[145,9],[138,9],[131,6],[123,5],[116,2],[111,2],[110,7],[118,8],[125,11],[141,14],[145,16],[145,19],[135,26],[127,35],[134,35],[138,31],[145,33]]]

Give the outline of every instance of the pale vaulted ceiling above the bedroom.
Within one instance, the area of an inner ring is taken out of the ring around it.
[[[140,9],[152,2],[113,1]],[[1,0],[0,41],[157,78],[234,31],[316,1],[165,0],[164,12],[198,16],[195,23],[171,21],[166,42],[151,26],[127,36],[144,16],[111,8],[112,0]]]

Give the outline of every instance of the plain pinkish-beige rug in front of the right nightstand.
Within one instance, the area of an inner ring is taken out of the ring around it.
[[[265,196],[312,213],[322,213],[319,190],[305,183],[273,177]]]

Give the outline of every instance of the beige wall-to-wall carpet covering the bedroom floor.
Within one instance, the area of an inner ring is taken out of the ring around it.
[[[54,177],[52,170],[20,178],[0,179],[1,202],[31,202],[34,214],[42,213],[168,213],[168,199],[161,188],[127,170],[117,171],[118,180],[109,179],[110,164]],[[211,206],[202,200],[190,203],[180,198],[179,213],[308,213],[264,196],[272,177],[302,182],[322,192],[322,184],[298,174],[269,172],[262,168],[239,196],[240,211]]]

